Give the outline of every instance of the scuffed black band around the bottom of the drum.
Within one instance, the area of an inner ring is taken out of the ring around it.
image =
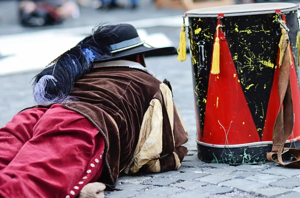
[[[300,148],[300,141],[286,143],[286,148]],[[198,158],[203,162],[217,164],[258,164],[268,162],[266,154],[271,152],[272,145],[257,145],[235,148],[216,148],[197,144]],[[282,155],[284,160],[289,160],[292,156]]]

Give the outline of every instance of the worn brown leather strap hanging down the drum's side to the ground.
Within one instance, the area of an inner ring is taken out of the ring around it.
[[[290,167],[290,168],[300,168],[300,149],[284,148],[284,144],[286,140],[292,134],[294,114],[293,114],[291,87],[289,81],[290,51],[289,51],[288,39],[283,40],[282,44],[284,49],[284,55],[283,55],[282,65],[279,70],[279,78],[278,78],[280,108],[273,128],[272,151],[268,153],[266,157],[268,161],[275,162],[281,166]],[[295,160],[289,163],[284,163],[282,161],[282,153],[292,154],[295,157]]]

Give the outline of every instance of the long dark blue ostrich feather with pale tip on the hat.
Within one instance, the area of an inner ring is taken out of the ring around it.
[[[93,60],[109,57],[110,47],[105,42],[119,25],[98,25],[92,34],[81,40],[75,47],[61,54],[33,79],[33,96],[37,104],[61,103],[75,100],[69,97],[74,82],[90,72]]]

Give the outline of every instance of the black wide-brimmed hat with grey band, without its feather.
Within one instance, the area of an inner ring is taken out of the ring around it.
[[[109,24],[111,25],[111,24]],[[125,56],[144,54],[148,56],[163,56],[176,53],[174,47],[156,48],[141,40],[136,29],[127,23],[115,24],[117,28],[111,35],[110,39],[105,41],[109,45],[111,56],[105,59],[95,58],[93,62],[104,62],[109,60],[121,59]]]

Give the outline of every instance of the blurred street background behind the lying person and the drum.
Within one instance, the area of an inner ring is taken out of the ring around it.
[[[99,23],[133,24],[156,47],[179,43],[186,10],[228,4],[300,2],[300,0],[0,0],[0,127],[34,105],[30,80]],[[174,100],[187,126],[189,149],[196,133],[189,58],[152,57],[148,67],[173,86]]]

